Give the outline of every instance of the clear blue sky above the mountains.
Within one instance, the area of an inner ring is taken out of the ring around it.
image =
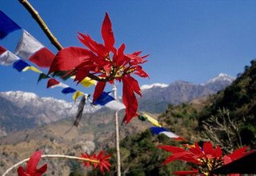
[[[100,29],[105,12],[110,14],[115,46],[126,44],[126,53],[142,50],[150,54],[144,70],[150,79],[140,85],[176,80],[202,83],[219,73],[236,76],[256,56],[256,1],[170,0],[30,0],[62,46],[82,46],[78,32],[102,42]],[[54,53],[46,35],[18,0],[0,1],[0,9]],[[14,51],[20,32],[0,41]],[[0,91],[23,90],[40,96],[71,100],[61,89],[46,89],[36,83],[38,74],[18,73],[0,66]],[[75,86],[73,82],[67,82]],[[93,89],[78,86],[92,93]]]

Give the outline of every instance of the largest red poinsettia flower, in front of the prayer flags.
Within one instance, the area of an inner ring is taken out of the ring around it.
[[[114,33],[109,15],[106,13],[102,23],[102,38],[104,44],[95,42],[88,34],[79,33],[78,39],[87,47],[68,47],[60,50],[49,73],[68,71],[66,75],[75,75],[74,81],[82,82],[86,77],[98,81],[94,90],[94,101],[102,94],[106,82],[112,84],[114,80],[123,82],[123,102],[126,106],[126,116],[123,122],[130,122],[136,116],[138,102],[134,93],[141,95],[138,82],[130,76],[136,74],[142,78],[148,74],[142,70],[141,64],[148,56],[140,56],[141,51],[125,54],[125,44],[118,49],[114,47]]]

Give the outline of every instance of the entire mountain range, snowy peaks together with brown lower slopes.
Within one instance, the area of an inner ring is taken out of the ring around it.
[[[158,111],[164,110],[165,106],[173,103],[176,94],[180,98],[176,98],[174,104],[190,102],[192,98],[214,94],[216,90],[207,88],[210,84],[214,87],[219,85],[218,90],[220,90],[223,85],[228,86],[233,80],[234,78],[226,74],[220,74],[217,78],[202,85],[178,81],[170,85],[142,86],[143,96],[139,98],[140,106],[142,106],[140,110],[147,111],[146,108],[151,105],[152,109],[149,111],[154,114],[150,116],[157,118]],[[175,93],[170,91],[175,91]],[[72,102],[40,98],[34,93],[22,91],[0,93],[0,135],[2,135],[0,138],[0,150],[2,150],[0,173],[15,162],[29,156],[34,150],[43,150],[45,154],[79,155],[82,151],[90,153],[95,149],[107,150],[113,147],[114,112],[104,107],[98,110],[86,106],[78,128],[70,129],[77,107],[78,105]],[[123,116],[124,111],[119,114],[120,123]],[[120,124],[120,138],[138,134],[150,126],[149,122],[134,118],[126,126]],[[66,133],[67,131],[69,132]],[[58,164],[52,162],[49,165],[49,170],[55,170],[55,174],[67,175],[72,170],[69,162],[56,163]],[[62,170],[58,169],[59,167]],[[60,170],[59,173],[56,170]]]

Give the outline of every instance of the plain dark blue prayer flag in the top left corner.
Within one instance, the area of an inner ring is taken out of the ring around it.
[[[13,20],[11,20],[6,14],[0,10],[0,38],[5,38],[6,35],[10,34],[14,30],[20,30],[21,27],[18,26]]]

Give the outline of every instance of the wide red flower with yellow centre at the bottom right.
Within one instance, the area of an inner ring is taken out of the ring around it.
[[[212,172],[220,166],[226,165],[246,154],[248,147],[243,147],[234,150],[232,154],[224,155],[222,157],[222,149],[217,146],[215,149],[211,142],[204,142],[202,148],[195,142],[193,146],[185,145],[187,149],[177,146],[158,146],[159,148],[172,153],[162,165],[175,160],[194,162],[198,165],[198,170],[191,168],[191,170],[177,171],[177,175],[214,175]],[[232,176],[236,174],[230,174]]]

